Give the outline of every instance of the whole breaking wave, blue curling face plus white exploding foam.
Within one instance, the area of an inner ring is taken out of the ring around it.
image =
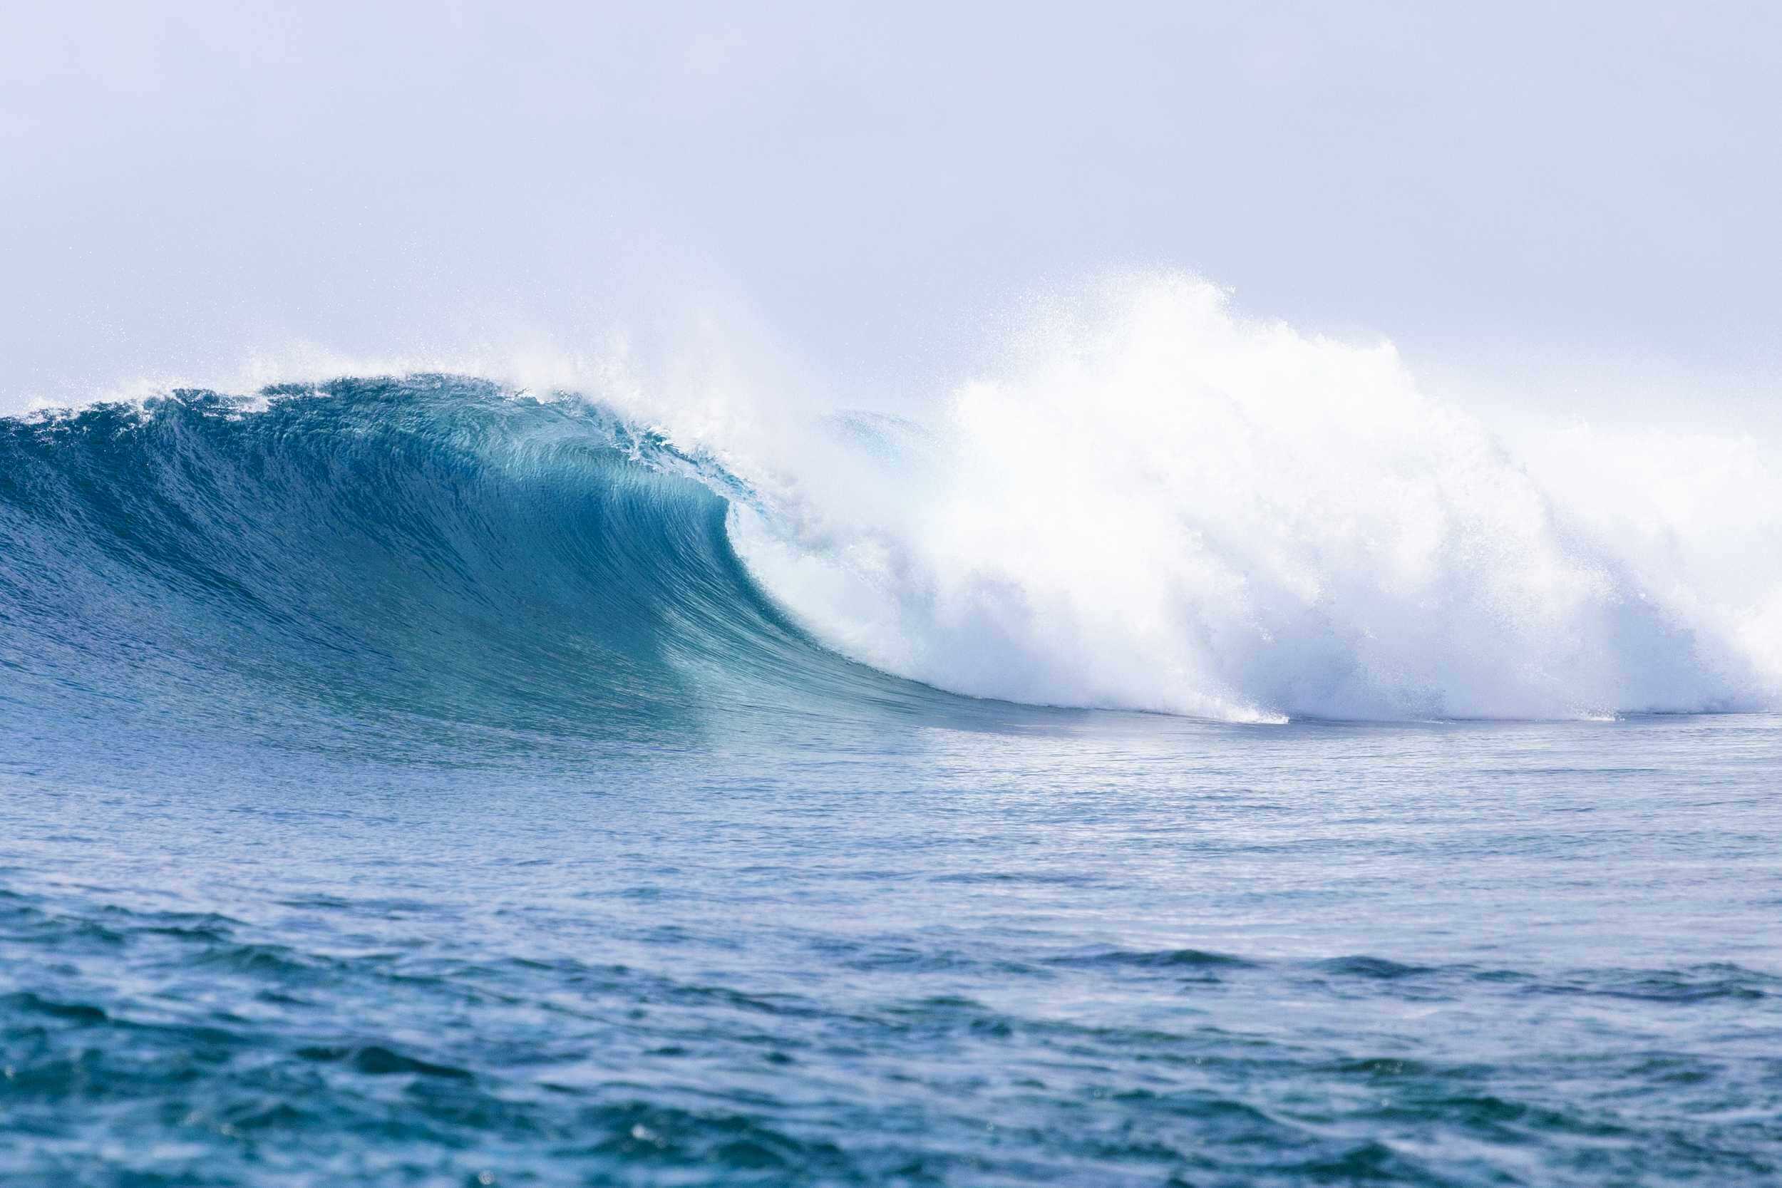
[[[1060,303],[898,415],[695,404],[413,374],[4,420],[0,698],[319,739],[968,712],[948,693],[1251,721],[1777,700],[1771,452],[1518,458],[1390,347],[1199,281]]]

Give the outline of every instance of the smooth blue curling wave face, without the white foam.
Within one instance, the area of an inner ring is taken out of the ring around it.
[[[586,403],[444,376],[5,420],[0,700],[57,732],[490,750],[957,700],[788,620],[716,490],[743,488]]]

